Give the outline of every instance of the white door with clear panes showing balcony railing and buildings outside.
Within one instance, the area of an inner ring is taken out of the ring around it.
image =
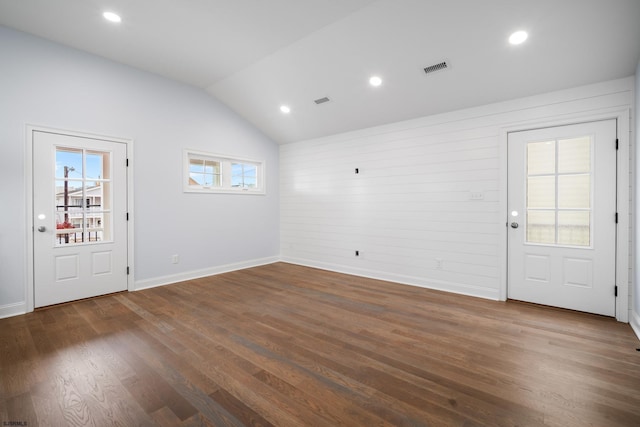
[[[126,144],[33,134],[34,305],[127,289]]]

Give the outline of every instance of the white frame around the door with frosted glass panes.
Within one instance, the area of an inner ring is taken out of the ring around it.
[[[526,122],[513,125],[501,129],[500,135],[500,182],[502,183],[500,194],[500,212],[502,213],[502,222],[500,224],[500,253],[501,257],[501,278],[500,278],[500,300],[507,300],[507,279],[508,279],[508,136],[512,132],[520,132],[527,130],[535,130],[540,128],[565,126],[579,124],[585,122],[594,122],[607,119],[616,119],[618,133],[618,152],[617,152],[617,212],[618,227],[616,229],[616,278],[615,284],[618,287],[618,297],[616,298],[616,320],[619,322],[629,322],[629,167],[630,167],[630,110],[627,109],[610,109],[599,114],[576,114],[565,115],[562,119],[539,120],[535,122]]]

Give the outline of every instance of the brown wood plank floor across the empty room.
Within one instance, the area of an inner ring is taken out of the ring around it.
[[[278,263],[0,320],[0,423],[640,426],[637,347],[614,319]]]

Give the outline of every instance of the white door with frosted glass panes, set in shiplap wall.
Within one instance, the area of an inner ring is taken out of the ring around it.
[[[508,142],[509,298],[614,316],[616,121]]]

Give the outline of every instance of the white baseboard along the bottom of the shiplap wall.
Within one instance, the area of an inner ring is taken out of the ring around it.
[[[498,289],[487,289],[479,286],[468,285],[464,283],[454,283],[442,280],[431,280],[422,277],[406,276],[402,274],[387,273],[383,271],[361,269],[357,267],[348,267],[343,265],[334,265],[329,263],[310,261],[301,258],[282,257],[282,262],[290,264],[303,265],[305,267],[319,268],[321,270],[335,271],[336,273],[351,274],[354,276],[366,277],[369,279],[386,280],[396,282],[403,285],[418,286],[421,288],[434,289],[438,291],[452,292],[461,295],[479,297],[498,301],[500,299],[500,291]]]

